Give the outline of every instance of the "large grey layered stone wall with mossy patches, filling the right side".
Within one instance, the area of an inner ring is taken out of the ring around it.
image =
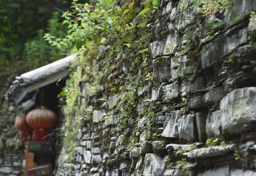
[[[56,175],[256,175],[256,1],[207,17],[193,2],[161,1],[145,63],[154,82],[132,118],[116,113],[123,94],[99,101],[104,82],[122,76],[105,75],[97,91],[81,83],[77,147],[71,160],[61,152]]]

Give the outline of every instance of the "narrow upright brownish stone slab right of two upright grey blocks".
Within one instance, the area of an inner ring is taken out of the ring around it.
[[[199,142],[203,142],[207,139],[206,135],[206,114],[204,112],[196,112],[196,129],[198,134],[198,140]]]

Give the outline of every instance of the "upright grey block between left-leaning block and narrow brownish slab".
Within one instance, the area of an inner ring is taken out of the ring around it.
[[[195,136],[195,114],[184,115],[178,122],[179,138],[186,142],[193,142],[196,140]]]

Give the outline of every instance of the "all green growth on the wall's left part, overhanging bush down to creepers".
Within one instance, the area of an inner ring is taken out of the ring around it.
[[[91,4],[73,1],[72,10],[63,13],[63,24],[68,27],[67,35],[57,37],[45,34],[44,38],[52,46],[76,47],[80,54],[75,63],[77,67],[74,67],[76,75],[70,78],[67,87],[61,92],[61,95],[67,96],[63,133],[75,134],[71,133],[70,129],[77,124],[76,118],[83,114],[82,108],[79,107],[108,108],[109,96],[118,94],[116,108],[111,109],[105,118],[110,118],[112,115],[118,116],[121,131],[128,126],[132,128],[132,133],[125,136],[120,149],[138,147],[137,131],[134,130],[136,128],[134,121],[138,117],[138,92],[142,91],[143,85],[148,82],[154,84],[154,77],[148,74],[150,69],[148,24],[152,22],[154,18],[152,14],[157,6],[156,0],[122,3],[116,3],[115,0],[99,0]],[[128,75],[125,75],[122,70],[123,61],[129,62]],[[80,85],[86,87],[86,96],[83,97],[86,99],[86,105],[79,103],[83,95],[76,89],[80,89]],[[104,89],[99,90],[99,85]],[[141,88],[138,89],[138,87]],[[147,92],[140,96],[148,99]],[[154,103],[148,103],[143,115],[154,116],[152,106]],[[90,116],[92,119],[91,112],[85,116],[82,117],[89,119],[88,116]],[[151,134],[149,126],[145,130]],[[152,135],[148,135],[148,138],[151,137]],[[67,142],[76,143],[76,137],[72,141],[65,138],[66,135],[63,137],[65,145]],[[63,150],[70,151],[68,147]]]

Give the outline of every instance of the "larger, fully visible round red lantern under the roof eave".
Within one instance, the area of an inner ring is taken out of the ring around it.
[[[45,108],[45,106],[40,106],[28,113],[26,121],[30,126],[35,128],[32,135],[32,140],[46,141],[47,131],[45,128],[52,128],[56,125],[57,116],[51,110]]]

